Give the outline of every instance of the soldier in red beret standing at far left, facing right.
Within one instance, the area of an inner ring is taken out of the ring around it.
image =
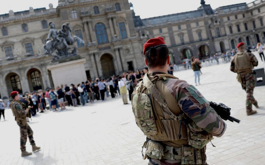
[[[33,140],[33,131],[31,130],[30,126],[26,122],[26,114],[31,109],[31,106],[26,107],[26,105],[19,100],[19,92],[13,91],[10,93],[13,101],[10,103],[10,108],[13,112],[13,116],[15,116],[15,120],[17,121],[17,125],[20,129],[20,149],[21,149],[21,156],[28,156],[31,155],[31,152],[26,151],[26,141],[27,135],[32,146],[32,151],[36,152],[41,149],[41,147],[37,147],[35,141]]]

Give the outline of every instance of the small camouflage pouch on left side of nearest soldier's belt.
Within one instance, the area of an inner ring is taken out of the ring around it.
[[[147,148],[145,151],[145,154],[153,159],[162,159],[162,157],[164,156],[163,154],[164,150],[163,150],[163,146],[160,143],[157,143],[153,140],[149,140],[147,143]]]

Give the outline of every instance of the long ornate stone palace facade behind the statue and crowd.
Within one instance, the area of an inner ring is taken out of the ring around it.
[[[152,37],[164,37],[175,64],[230,51],[240,41],[249,48],[264,43],[264,11],[264,0],[214,10],[201,0],[195,11],[146,19],[136,16],[128,0],[58,0],[56,8],[10,10],[0,15],[0,95],[54,86],[53,57],[43,54],[49,22],[56,29],[69,22],[72,35],[84,40],[76,43],[78,54],[86,76],[95,78],[145,67],[142,47]]]

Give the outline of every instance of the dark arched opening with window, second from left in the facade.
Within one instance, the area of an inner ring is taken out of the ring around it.
[[[44,89],[41,72],[38,69],[36,68],[30,69],[27,72],[27,79],[30,91],[37,91],[39,89]]]

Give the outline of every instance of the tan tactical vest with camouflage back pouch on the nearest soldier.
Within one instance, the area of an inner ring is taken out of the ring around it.
[[[169,74],[150,78],[152,82],[146,74],[132,93],[132,110],[138,127],[149,139],[174,147],[187,145],[187,127],[181,124],[184,113],[162,82],[178,78]]]

